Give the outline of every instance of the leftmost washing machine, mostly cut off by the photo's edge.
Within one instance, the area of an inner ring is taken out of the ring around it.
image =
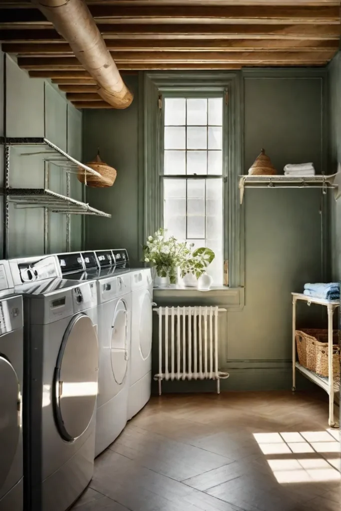
[[[23,313],[8,261],[0,261],[0,511],[22,511]]]

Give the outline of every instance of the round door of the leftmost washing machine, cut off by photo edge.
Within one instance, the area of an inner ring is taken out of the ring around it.
[[[19,380],[10,362],[0,355],[0,494],[15,456],[20,432]]]

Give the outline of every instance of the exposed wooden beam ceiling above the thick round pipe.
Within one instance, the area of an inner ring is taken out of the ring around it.
[[[122,74],[145,69],[321,66],[339,48],[340,0],[89,0]],[[111,108],[29,1],[0,0],[0,41],[77,108]]]

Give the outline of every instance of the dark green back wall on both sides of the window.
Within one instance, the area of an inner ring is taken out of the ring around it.
[[[321,172],[325,159],[324,72],[274,73],[264,69],[243,74],[243,83],[245,173],[262,147],[279,171],[286,163],[313,161]],[[83,114],[84,159],[92,158],[99,145],[103,159],[118,170],[111,189],[87,191],[88,201],[110,211],[112,219],[87,218],[86,245],[126,246],[136,261],[141,217],[138,79],[130,77],[128,84],[135,92],[129,109]],[[321,280],[325,270],[321,191],[248,189],[243,207],[245,304],[227,316],[221,366],[231,377],[222,382],[222,388],[290,388],[290,293],[301,291],[307,281]],[[202,304],[204,301],[202,295]],[[312,326],[320,322],[321,311],[312,311],[308,319],[305,308],[300,317],[301,326]],[[167,384],[164,387],[167,390]],[[213,389],[214,384],[180,382],[168,388],[202,390]]]

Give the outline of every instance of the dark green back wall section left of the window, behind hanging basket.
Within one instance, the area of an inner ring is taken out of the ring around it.
[[[112,218],[87,217],[87,248],[126,247],[133,264],[139,260],[139,94],[138,77],[126,78],[134,101],[126,110],[84,110],[83,161],[100,148],[101,158],[117,170],[112,188],[86,189],[86,200]]]

